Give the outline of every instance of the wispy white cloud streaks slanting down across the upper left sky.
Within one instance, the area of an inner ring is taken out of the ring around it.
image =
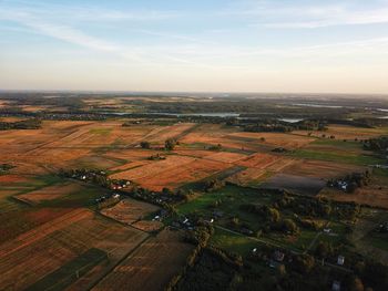
[[[21,24],[24,29],[28,29],[25,31],[30,33],[38,33],[82,48],[110,53],[111,55],[115,55],[123,60],[135,62],[137,64],[153,65],[167,62],[170,64],[177,63],[184,65],[210,67],[210,65],[206,63],[201,63],[190,59],[185,59],[187,54],[183,53],[182,51],[176,51],[176,49],[173,46],[170,46],[170,49],[167,50],[160,50],[160,48],[157,46],[136,48],[133,45],[123,45],[120,43],[109,41],[106,39],[90,35],[83,32],[82,30],[69,24],[69,22],[76,22],[78,20],[92,20],[93,22],[96,20],[162,20],[165,18],[173,17],[173,13],[149,11],[146,13],[144,12],[136,14],[121,11],[103,11],[99,9],[84,9],[74,7],[68,9],[67,12],[63,13],[58,11],[58,7],[54,11],[54,13],[50,12],[49,10],[47,10],[47,7],[43,6],[42,8],[40,8],[39,4],[37,8],[37,3],[34,3],[33,9],[13,8],[0,10],[0,20],[8,20]],[[63,22],[62,19],[65,19],[67,21]],[[144,29],[137,29],[132,31],[147,35],[161,37],[164,39],[180,40],[182,42],[192,42],[195,44],[214,44],[212,42],[202,41],[196,38],[178,35],[173,33],[164,33]]]

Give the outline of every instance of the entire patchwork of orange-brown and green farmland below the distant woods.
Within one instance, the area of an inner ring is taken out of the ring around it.
[[[351,253],[386,258],[386,233],[376,227],[388,217],[363,216],[388,209],[386,159],[372,142],[360,142],[386,126],[324,122],[327,129],[292,131],[321,119],[292,126],[277,122],[278,112],[276,121],[256,113],[167,117],[145,96],[84,104],[80,113],[21,105],[24,114],[48,115],[35,129],[0,132],[0,290],[164,290],[201,263],[244,262],[251,269],[236,273],[275,278],[282,268],[269,267],[274,251],[286,253],[284,280],[295,273],[288,256],[313,257],[314,272],[323,259],[330,269],[339,254],[347,259],[336,271],[353,271]],[[1,122],[30,118],[22,116]],[[340,190],[335,183],[343,180],[358,184]],[[200,247],[204,261],[193,252]]]

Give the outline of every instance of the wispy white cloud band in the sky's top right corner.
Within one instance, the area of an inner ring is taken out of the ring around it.
[[[357,4],[357,1],[328,1],[316,4],[300,1],[245,1],[233,4],[221,14],[251,18],[253,27],[315,29],[388,23],[388,2],[370,1],[366,8]]]

